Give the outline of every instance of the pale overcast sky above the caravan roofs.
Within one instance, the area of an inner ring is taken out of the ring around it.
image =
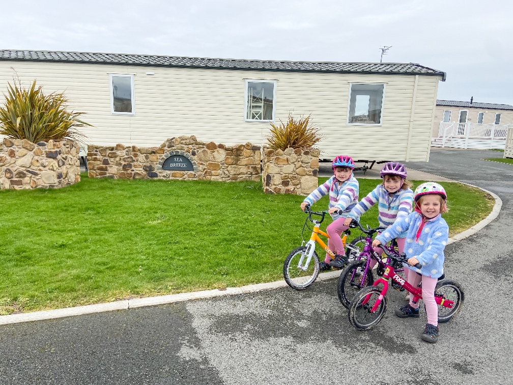
[[[438,99],[513,105],[513,2],[13,1],[0,48],[333,62],[447,72]]]

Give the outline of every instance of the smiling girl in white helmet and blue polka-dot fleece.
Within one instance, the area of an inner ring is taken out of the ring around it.
[[[447,194],[438,183],[422,183],[413,194],[415,211],[403,217],[372,242],[372,246],[390,241],[407,231],[404,252],[408,257],[406,267],[420,273],[408,275],[408,283],[417,287],[422,281],[422,300],[426,306],[427,323],[421,338],[427,342],[438,339],[438,306],[435,302],[435,286],[444,272],[444,248],[449,237],[449,226],[440,215],[447,212]],[[421,269],[415,266],[422,265]],[[410,303],[396,310],[400,318],[419,318],[419,303]]]

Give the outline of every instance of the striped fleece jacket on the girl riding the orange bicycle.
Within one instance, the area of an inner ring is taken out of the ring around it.
[[[329,194],[328,209],[331,207],[337,207],[339,210],[343,210],[342,215],[337,213],[331,214],[331,218],[336,220],[340,217],[347,218],[351,209],[358,203],[358,192],[360,185],[354,175],[345,182],[339,182],[333,175],[326,182],[320,185],[317,189],[310,192],[310,195],[305,198],[304,202],[309,205],[317,202],[319,199]]]

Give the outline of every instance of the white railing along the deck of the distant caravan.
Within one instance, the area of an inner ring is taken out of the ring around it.
[[[442,139],[442,147],[452,138],[464,139],[464,147],[468,148],[468,140],[489,140],[489,147],[497,145],[497,141],[506,140],[507,124],[478,124],[441,122],[438,129],[438,138]],[[495,141],[495,143],[494,143]],[[488,146],[487,146],[488,147]]]

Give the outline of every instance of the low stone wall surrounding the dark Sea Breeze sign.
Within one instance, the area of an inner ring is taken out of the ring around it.
[[[192,171],[163,170],[167,158],[186,157]],[[251,143],[225,146],[200,142],[194,136],[167,139],[160,147],[116,144],[88,146],[90,178],[199,179],[212,181],[260,180],[259,146]]]

